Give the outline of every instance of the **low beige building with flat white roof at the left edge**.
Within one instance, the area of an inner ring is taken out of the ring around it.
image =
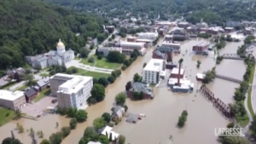
[[[17,110],[24,107],[26,104],[26,99],[24,92],[22,91],[9,91],[0,89],[0,106],[6,107],[11,110]]]

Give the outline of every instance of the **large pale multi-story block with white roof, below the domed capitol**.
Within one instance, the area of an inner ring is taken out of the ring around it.
[[[50,87],[58,87],[58,90],[54,92],[57,95],[58,106],[61,108],[85,108],[93,86],[92,79],[92,77],[55,74],[50,78]],[[64,83],[62,83],[63,81]]]

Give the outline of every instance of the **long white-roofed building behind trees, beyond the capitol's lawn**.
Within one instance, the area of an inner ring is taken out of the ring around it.
[[[136,42],[124,42],[121,41],[117,43],[119,47],[122,48],[122,53],[125,55],[131,55],[131,52],[134,49],[137,49],[141,55],[144,55],[147,51],[145,49],[145,43],[136,43]]]

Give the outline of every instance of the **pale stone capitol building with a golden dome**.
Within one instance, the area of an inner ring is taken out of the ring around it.
[[[44,68],[47,66],[62,65],[73,60],[74,51],[72,49],[68,49],[66,51],[65,45],[61,42],[61,39],[59,39],[59,42],[56,45],[56,49],[56,51],[50,50],[44,55],[26,56],[26,60],[34,68]]]

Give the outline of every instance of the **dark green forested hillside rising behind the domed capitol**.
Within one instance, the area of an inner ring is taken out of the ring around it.
[[[24,66],[25,55],[55,49],[59,38],[78,52],[87,37],[102,32],[104,22],[108,20],[37,0],[1,0],[0,69]]]

